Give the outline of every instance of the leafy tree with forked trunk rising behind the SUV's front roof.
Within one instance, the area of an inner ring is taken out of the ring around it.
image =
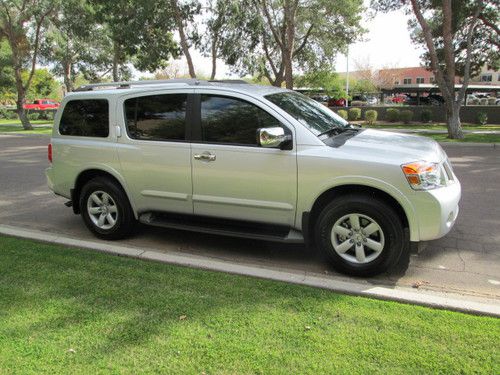
[[[362,0],[244,0],[232,17],[244,18],[240,45],[224,51],[242,74],[265,76],[293,88],[294,69],[328,69],[338,51],[363,32]],[[233,37],[230,35],[230,37]],[[234,37],[233,37],[234,39]]]

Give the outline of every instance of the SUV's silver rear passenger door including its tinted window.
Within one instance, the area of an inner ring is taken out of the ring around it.
[[[147,92],[119,101],[118,118],[125,132],[119,139],[118,155],[139,213],[193,213],[190,92]]]

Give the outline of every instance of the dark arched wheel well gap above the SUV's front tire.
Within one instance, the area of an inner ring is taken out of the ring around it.
[[[311,212],[309,214],[309,223],[306,224],[308,225],[307,228],[307,233],[314,233],[314,225],[316,222],[316,219],[318,218],[321,210],[323,207],[325,207],[332,199],[337,198],[342,195],[346,194],[352,194],[352,193],[358,193],[358,194],[366,194],[369,195],[373,198],[378,198],[385,203],[387,203],[389,206],[394,208],[398,216],[401,218],[401,221],[403,223],[404,228],[409,228],[408,224],[408,218],[406,217],[406,213],[399,204],[399,202],[394,199],[390,194],[386,193],[385,191],[379,190],[377,188],[373,188],[370,186],[364,186],[364,185],[342,185],[342,186],[336,186],[334,188],[331,188],[327,191],[325,191],[323,194],[321,194],[316,201],[313,204],[313,207],[311,209]]]

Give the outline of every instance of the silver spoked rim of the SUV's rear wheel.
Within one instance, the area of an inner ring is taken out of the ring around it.
[[[108,230],[118,220],[116,203],[108,193],[95,191],[87,199],[87,212],[92,223],[99,229]]]

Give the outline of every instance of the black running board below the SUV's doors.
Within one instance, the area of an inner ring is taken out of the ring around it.
[[[156,227],[216,234],[221,236],[252,238],[256,240],[303,243],[302,233],[290,227],[254,222],[215,219],[204,216],[147,212],[139,221]]]

